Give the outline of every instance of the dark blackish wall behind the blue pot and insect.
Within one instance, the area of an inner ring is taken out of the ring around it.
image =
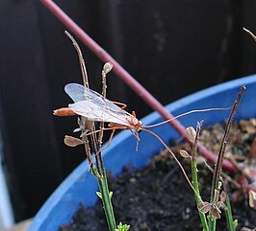
[[[55,1],[161,103],[253,74],[253,0]],[[38,1],[2,0],[0,8],[0,125],[3,164],[16,220],[39,206],[83,159],[64,147],[75,118],[52,110],[70,103],[67,82],[82,82],[64,26]],[[80,42],[90,86],[99,90],[103,63]],[[108,96],[142,117],[151,109],[115,74]]]

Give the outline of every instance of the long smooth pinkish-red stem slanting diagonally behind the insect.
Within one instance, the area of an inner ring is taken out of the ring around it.
[[[50,10],[61,22],[64,23],[66,28],[76,35],[92,53],[94,53],[102,61],[110,61],[113,63],[113,71],[115,74],[124,81],[131,89],[133,89],[141,99],[148,104],[151,108],[156,110],[164,119],[173,118],[165,108],[164,105],[160,104],[142,85],[139,81],[136,81],[114,58],[112,58],[103,48],[101,48],[89,35],[87,35],[65,12],[63,12],[53,1],[51,0],[40,0],[41,3]],[[173,127],[189,144],[192,145],[185,127],[183,127],[177,120],[169,122],[169,125]],[[206,150],[204,147],[199,147],[202,155],[212,163],[216,163],[217,156],[210,150]],[[223,168],[235,172],[236,168],[227,160],[223,162]]]

